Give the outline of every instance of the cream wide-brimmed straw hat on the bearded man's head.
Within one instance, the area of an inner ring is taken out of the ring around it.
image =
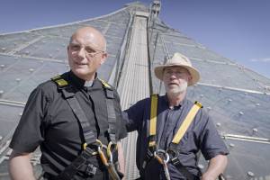
[[[186,58],[183,54],[175,52],[173,58],[169,58],[165,65],[155,67],[155,75],[158,79],[163,81],[163,72],[165,67],[184,67],[192,76],[192,79],[188,82],[188,85],[196,84],[200,79],[199,71],[193,67],[191,61]]]

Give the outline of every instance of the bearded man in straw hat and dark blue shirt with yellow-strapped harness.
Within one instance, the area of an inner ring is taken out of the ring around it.
[[[166,94],[152,94],[123,112],[128,131],[137,130],[137,166],[141,179],[216,179],[227,166],[226,145],[202,110],[202,104],[186,99],[187,86],[200,73],[190,60],[175,53],[165,65],[155,67]],[[199,151],[209,160],[201,173]]]

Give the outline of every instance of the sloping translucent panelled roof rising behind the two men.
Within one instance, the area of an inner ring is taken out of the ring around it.
[[[104,80],[118,79],[119,72],[126,69],[116,70],[115,67],[121,67],[124,59],[128,58],[125,53],[129,53],[130,49],[127,48],[132,42],[130,29],[134,23],[135,10],[148,12],[148,7],[138,3],[129,4],[99,18],[0,35],[0,127],[4,127],[0,128],[1,150],[8,150],[3,147],[22,115],[23,105],[31,90],[51,76],[67,71],[67,43],[76,28],[93,25],[103,31],[109,58],[99,69],[99,74]],[[267,140],[262,140],[270,137],[270,80],[221,57],[183,33],[166,26],[159,19],[148,24],[147,33],[152,83],[150,89],[154,93],[165,93],[164,87],[154,76],[153,68],[164,64],[167,57],[179,51],[191,58],[193,66],[200,70],[202,79],[198,85],[189,87],[188,98],[202,102],[204,111],[211,114],[229,147],[227,178],[270,178],[267,154],[270,145]],[[145,70],[145,66],[138,65],[134,68]],[[139,87],[146,88],[141,85]],[[126,105],[130,103],[126,102]],[[238,138],[231,138],[230,134]],[[6,157],[4,153],[0,153],[2,157]],[[203,165],[205,167],[202,159]],[[1,174],[5,166],[0,166],[0,179],[8,179],[7,175]],[[135,175],[135,166],[129,166],[130,173]]]

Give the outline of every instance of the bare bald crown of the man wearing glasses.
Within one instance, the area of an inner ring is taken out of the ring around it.
[[[87,26],[77,29],[71,36],[69,43],[76,39],[85,39],[91,42],[94,49],[106,51],[106,40],[101,31],[96,30],[94,27]]]

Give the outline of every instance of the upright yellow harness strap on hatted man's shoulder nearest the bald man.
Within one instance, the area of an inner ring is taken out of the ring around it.
[[[155,136],[157,130],[157,94],[151,94],[151,113],[150,113],[150,129],[149,136]],[[156,141],[149,141],[149,147],[156,145]]]

